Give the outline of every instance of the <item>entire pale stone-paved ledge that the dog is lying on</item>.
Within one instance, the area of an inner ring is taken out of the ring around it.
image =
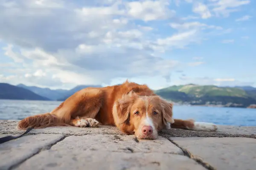
[[[23,133],[17,122],[0,120],[0,137]],[[162,130],[157,140],[139,141],[111,126],[35,129],[0,144],[0,169],[253,170],[256,127],[218,127]]]

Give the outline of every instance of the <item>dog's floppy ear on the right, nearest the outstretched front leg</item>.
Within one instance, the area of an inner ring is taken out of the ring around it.
[[[164,99],[160,99],[161,106],[162,106],[162,119],[163,123],[166,125],[167,122],[174,123],[172,119],[172,103],[167,102]]]

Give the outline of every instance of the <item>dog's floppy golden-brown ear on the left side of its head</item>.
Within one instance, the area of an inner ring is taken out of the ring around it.
[[[114,104],[114,110],[119,118],[119,123],[129,124],[131,106],[137,99],[138,95],[135,93],[128,93],[122,96],[121,99],[117,100]]]

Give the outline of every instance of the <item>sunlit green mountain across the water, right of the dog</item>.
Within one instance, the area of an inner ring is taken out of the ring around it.
[[[222,105],[248,107],[256,104],[256,98],[241,88],[214,85],[179,85],[155,91],[156,94],[173,102],[190,105]]]

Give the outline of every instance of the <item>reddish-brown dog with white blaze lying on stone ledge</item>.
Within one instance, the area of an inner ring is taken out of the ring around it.
[[[147,85],[126,82],[102,88],[84,88],[67,98],[50,113],[29,116],[18,122],[17,128],[51,126],[99,127],[116,126],[138,139],[157,139],[162,129],[181,128],[215,131],[207,122],[173,119],[173,105],[154,94]]]

